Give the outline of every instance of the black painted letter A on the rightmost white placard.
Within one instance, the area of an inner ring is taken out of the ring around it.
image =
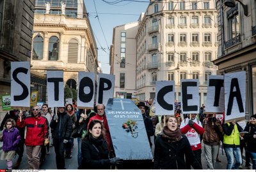
[[[233,92],[234,87],[236,87],[235,92]],[[231,115],[234,97],[236,97],[240,113],[244,112],[242,96],[241,96],[240,87],[239,87],[237,78],[232,78],[231,83],[230,83],[230,94],[229,94],[229,98],[228,98],[227,115]]]

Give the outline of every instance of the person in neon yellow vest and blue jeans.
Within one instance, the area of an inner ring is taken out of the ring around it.
[[[223,124],[223,147],[227,155],[227,169],[238,169],[242,164],[239,134],[242,131],[242,127],[237,124],[236,120]]]

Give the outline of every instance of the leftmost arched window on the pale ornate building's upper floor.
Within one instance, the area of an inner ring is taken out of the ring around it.
[[[44,41],[41,36],[36,36],[33,40],[33,60],[42,60],[43,59],[43,49],[44,49]]]

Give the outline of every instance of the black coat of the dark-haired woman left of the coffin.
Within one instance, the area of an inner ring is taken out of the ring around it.
[[[104,138],[86,138],[81,146],[82,163],[79,169],[110,169],[108,143]]]

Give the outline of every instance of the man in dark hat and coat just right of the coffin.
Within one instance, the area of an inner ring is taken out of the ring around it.
[[[151,140],[150,140],[150,136],[154,136],[154,127],[153,127],[152,120],[150,118],[148,118],[147,115],[146,115],[146,111],[148,110],[148,106],[146,106],[145,103],[142,102],[142,101],[139,104],[137,104],[137,106],[141,110],[141,114],[142,114],[143,121],[144,121],[144,124],[145,124],[145,128],[146,128],[146,131],[147,131],[148,141],[149,141],[150,148],[151,148],[152,143],[151,143]]]

